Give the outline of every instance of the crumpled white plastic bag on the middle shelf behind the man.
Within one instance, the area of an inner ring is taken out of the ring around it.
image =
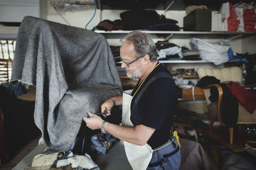
[[[207,62],[213,62],[216,65],[228,61],[228,49],[230,46],[207,43],[202,39],[189,39],[191,48],[200,50],[200,57]]]

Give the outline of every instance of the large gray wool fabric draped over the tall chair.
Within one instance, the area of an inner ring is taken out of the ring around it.
[[[19,28],[10,81],[17,80],[36,86],[35,123],[50,153],[68,150],[88,111],[122,94],[101,34],[35,17]]]

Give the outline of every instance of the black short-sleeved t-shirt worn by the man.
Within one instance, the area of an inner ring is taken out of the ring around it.
[[[159,72],[170,74],[166,67],[159,64],[159,66],[148,75],[133,97],[131,108],[134,104],[134,98],[140,93],[140,90],[143,89],[154,74]],[[138,87],[138,84],[134,87],[132,96]],[[131,113],[131,121],[134,126],[142,124],[156,129],[148,140],[148,145],[152,148],[161,146],[170,139],[170,128],[173,126],[174,114],[177,107],[177,94],[175,89],[175,83],[171,78],[164,77],[152,81],[138,102],[138,113],[134,113],[134,111]]]

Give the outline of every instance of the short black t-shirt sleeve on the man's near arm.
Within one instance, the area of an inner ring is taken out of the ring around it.
[[[161,129],[164,120],[177,104],[175,83],[170,78],[152,82],[138,103],[141,124]]]

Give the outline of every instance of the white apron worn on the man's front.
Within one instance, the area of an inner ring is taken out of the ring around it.
[[[131,96],[132,90],[126,90],[123,93],[123,109],[122,109],[122,125],[133,127],[131,122]],[[134,170],[147,169],[150,160],[152,159],[152,148],[147,143],[139,146],[124,141],[124,149],[129,163]]]

